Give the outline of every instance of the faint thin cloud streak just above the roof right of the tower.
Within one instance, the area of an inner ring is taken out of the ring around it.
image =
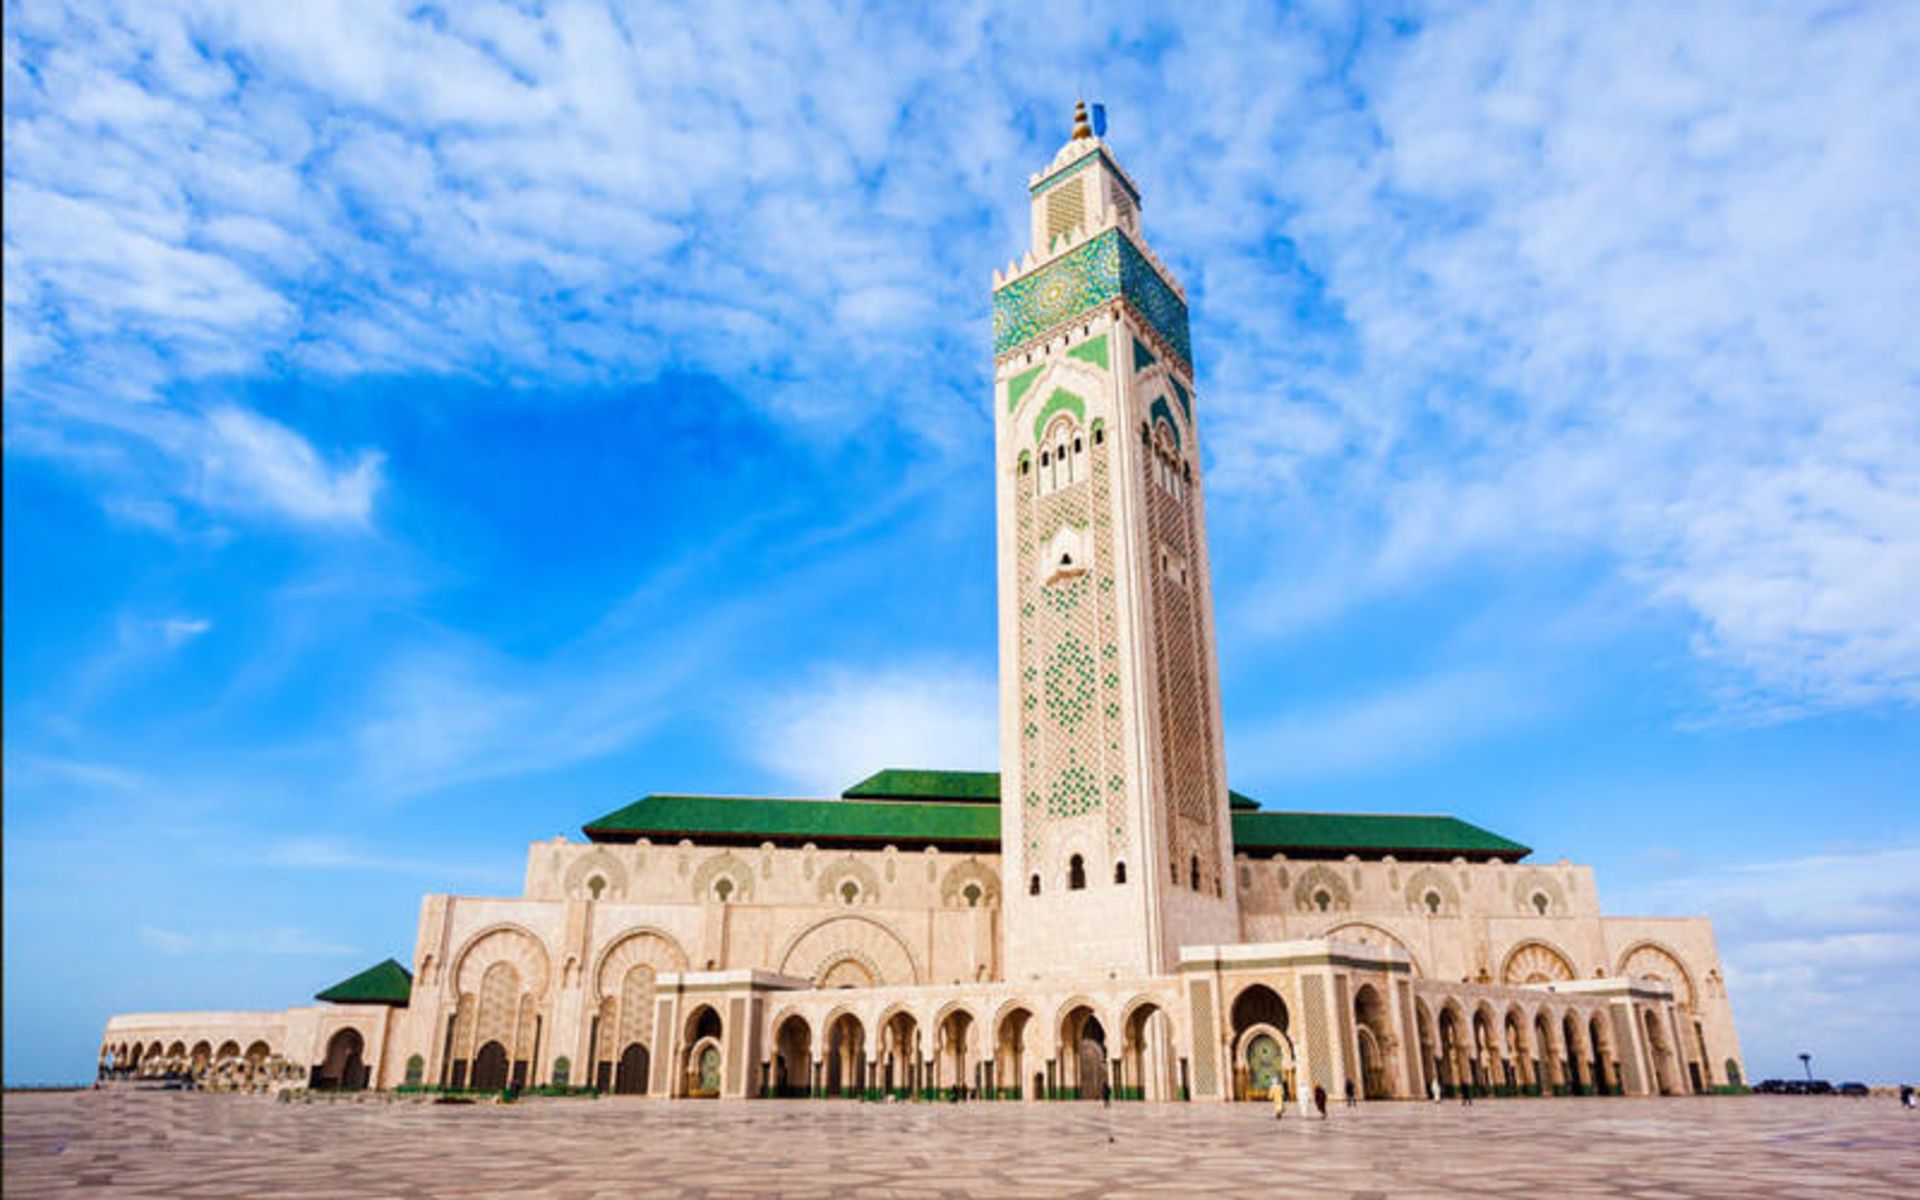
[[[1498,737],[1546,716],[1521,680],[1459,672],[1373,695],[1236,724],[1227,762],[1242,780],[1313,780],[1390,772]]]

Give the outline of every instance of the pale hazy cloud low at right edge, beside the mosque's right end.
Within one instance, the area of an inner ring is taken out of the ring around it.
[[[1628,908],[1713,916],[1755,1077],[1793,1071],[1801,1050],[1836,1079],[1920,1073],[1920,845],[1726,866]]]

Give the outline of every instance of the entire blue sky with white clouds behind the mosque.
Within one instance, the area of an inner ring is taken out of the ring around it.
[[[6,1079],[655,789],[995,764],[989,275],[1187,282],[1229,764],[1920,1077],[1920,8],[6,4]]]

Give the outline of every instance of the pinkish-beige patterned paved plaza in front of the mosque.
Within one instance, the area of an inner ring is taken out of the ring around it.
[[[1893,1100],[1265,1106],[524,1100],[278,1104],[15,1092],[6,1194],[1914,1196]]]

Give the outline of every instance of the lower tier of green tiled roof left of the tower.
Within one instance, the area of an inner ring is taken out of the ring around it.
[[[584,831],[593,841],[691,837],[733,845],[812,841],[998,851],[1000,804],[651,795]]]

